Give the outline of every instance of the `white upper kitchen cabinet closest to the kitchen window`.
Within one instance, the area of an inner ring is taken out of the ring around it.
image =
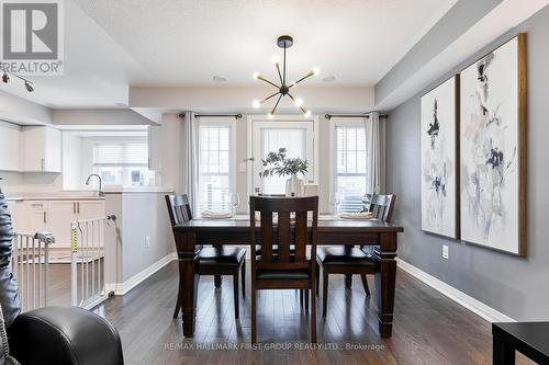
[[[22,171],[61,172],[61,133],[45,126],[23,127]]]

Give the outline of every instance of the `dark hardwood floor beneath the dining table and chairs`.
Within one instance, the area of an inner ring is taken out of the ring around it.
[[[64,304],[69,265],[54,267],[51,280],[57,298],[52,300]],[[326,320],[317,321],[316,350],[309,349],[309,316],[295,290],[259,292],[261,351],[250,350],[249,285],[237,321],[231,277],[224,277],[217,290],[212,276],[201,278],[195,337],[184,339],[181,317],[171,319],[175,262],[94,311],[119,329],[126,364],[491,364],[491,324],[401,270],[393,337],[380,339],[376,285],[368,278],[372,298],[366,297],[358,276],[351,289],[345,288],[343,275],[330,276],[328,312]],[[517,360],[533,364],[522,355]]]

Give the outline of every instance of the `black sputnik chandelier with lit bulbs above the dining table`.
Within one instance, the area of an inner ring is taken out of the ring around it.
[[[277,56],[272,57],[272,64],[274,65],[274,68],[277,69],[277,72],[278,72],[278,77],[280,79],[280,85],[267,80],[261,73],[255,72],[254,79],[267,82],[268,84],[274,87],[277,89],[277,92],[274,92],[273,94],[271,94],[262,100],[254,100],[253,106],[256,109],[260,107],[261,104],[264,104],[266,101],[273,99],[278,95],[278,99],[277,99],[277,102],[274,103],[274,106],[269,112],[269,114],[267,114],[269,116],[269,118],[272,118],[274,116],[274,112],[277,111],[278,104],[280,103],[280,100],[282,99],[282,96],[288,95],[292,100],[292,102],[295,104],[295,106],[298,106],[301,110],[301,112],[303,113],[303,116],[309,117],[309,116],[311,116],[311,111],[307,110],[305,106],[303,106],[303,100],[301,98],[294,98],[290,93],[290,91],[301,81],[309,79],[312,76],[318,75],[320,70],[318,70],[318,68],[315,67],[311,71],[309,71],[305,76],[303,76],[301,79],[299,79],[298,81],[292,81],[292,82],[288,83],[287,67],[285,67],[285,50],[293,45],[293,38],[289,35],[281,35],[278,37],[277,45],[280,48],[284,49],[284,58],[282,60],[282,70],[280,70],[280,59]]]

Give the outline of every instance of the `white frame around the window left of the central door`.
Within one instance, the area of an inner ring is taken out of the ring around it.
[[[236,193],[236,121],[234,117],[220,117],[220,116],[208,116],[200,117],[197,121],[197,149],[198,149],[198,166],[197,166],[197,195],[198,198],[193,199],[193,212],[197,212],[197,215],[200,216],[202,212],[199,209],[200,202],[200,160],[202,157],[202,135],[201,127],[202,126],[228,126],[228,191],[229,193]]]

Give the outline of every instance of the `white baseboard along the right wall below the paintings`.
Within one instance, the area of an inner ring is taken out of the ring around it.
[[[452,299],[457,304],[461,305],[462,307],[469,309],[473,313],[484,318],[489,322],[515,322],[515,320],[511,317],[505,316],[504,313],[495,310],[494,308],[486,306],[482,301],[479,301],[474,299],[473,297],[464,294],[463,292],[460,292],[456,289],[453,286],[450,286],[446,284],[445,282],[436,278],[433,275],[427,274],[421,269],[417,269],[416,266],[407,263],[406,261],[403,261],[399,258],[396,258],[396,262],[400,269],[404,270],[412,276],[418,278],[419,281],[424,282],[435,290],[439,292],[440,294],[447,296],[448,298]]]

